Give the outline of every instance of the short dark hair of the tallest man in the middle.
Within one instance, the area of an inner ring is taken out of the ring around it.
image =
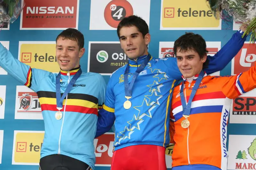
[[[136,26],[139,32],[142,33],[143,38],[149,32],[148,24],[146,23],[145,20],[143,20],[142,18],[136,15],[131,15],[129,17],[123,18],[118,24],[116,31],[119,39],[120,39],[120,29],[127,26]]]

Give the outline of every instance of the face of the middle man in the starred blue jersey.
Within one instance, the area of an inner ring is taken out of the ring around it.
[[[136,59],[148,53],[147,45],[150,42],[150,34],[143,38],[136,26],[124,26],[120,29],[120,44],[129,59]]]

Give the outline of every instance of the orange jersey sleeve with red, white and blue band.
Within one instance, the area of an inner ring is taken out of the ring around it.
[[[223,83],[222,92],[230,99],[234,99],[252,89],[256,88],[256,67],[248,71],[230,76]]]

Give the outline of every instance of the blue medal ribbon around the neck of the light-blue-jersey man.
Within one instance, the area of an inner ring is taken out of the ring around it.
[[[71,88],[73,87],[73,85],[75,84],[76,80],[78,79],[78,77],[82,74],[82,69],[80,68],[76,74],[74,75],[74,77],[71,79],[71,81],[68,83],[68,87],[65,90],[65,92],[63,93],[63,95],[60,97],[60,72],[56,77],[56,100],[57,100],[57,109],[60,111],[62,109],[63,106],[63,100],[64,98],[68,95],[68,93],[70,92]]]

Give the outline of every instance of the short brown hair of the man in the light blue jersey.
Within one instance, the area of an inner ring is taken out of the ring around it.
[[[79,49],[84,47],[84,35],[75,28],[68,28],[63,30],[56,38],[56,43],[59,38],[70,39],[76,41]]]

